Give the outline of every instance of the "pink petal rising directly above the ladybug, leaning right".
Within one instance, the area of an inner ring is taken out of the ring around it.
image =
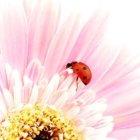
[[[81,30],[69,56],[69,61],[89,60],[89,56],[94,52],[101,41],[106,20],[107,13],[101,15],[100,11],[98,11],[93,14],[93,17],[90,18]]]

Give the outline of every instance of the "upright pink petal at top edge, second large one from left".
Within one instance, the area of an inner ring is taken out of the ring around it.
[[[36,1],[29,24],[28,61],[39,58],[44,62],[58,26],[58,18],[59,4],[56,0]]]

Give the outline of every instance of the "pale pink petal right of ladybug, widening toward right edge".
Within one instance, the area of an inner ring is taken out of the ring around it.
[[[110,51],[110,50],[108,50],[108,51]],[[113,84],[118,82],[123,77],[126,77],[128,74],[133,73],[133,71],[140,68],[140,63],[138,61],[136,61],[133,56],[130,56],[130,54],[129,55],[126,54],[125,51],[126,50],[120,50],[120,51],[118,50],[116,52],[116,55],[113,52],[114,56],[116,56],[116,57],[113,56],[111,61],[109,60],[109,62],[104,62],[105,66],[108,65],[108,63],[110,63],[110,67],[109,67],[108,71],[103,72],[104,74],[100,78],[100,81],[98,81],[98,83],[96,83],[96,86],[95,86],[96,91],[100,91],[100,93],[101,93],[103,90],[105,90],[105,88],[107,89],[107,88],[111,87]],[[105,55],[105,54],[103,54],[103,55]],[[105,55],[104,57],[106,57],[106,56],[107,55]],[[105,67],[103,67],[103,69],[105,69]],[[139,75],[139,73],[137,72],[136,75]],[[133,76],[131,76],[131,77],[134,79]],[[129,78],[131,78],[131,77],[129,77]],[[130,81],[128,79],[128,82],[130,82]],[[102,96],[104,94],[100,94],[100,95]]]

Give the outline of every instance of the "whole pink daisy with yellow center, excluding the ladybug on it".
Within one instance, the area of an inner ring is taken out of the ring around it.
[[[110,137],[138,136],[131,130],[139,124],[139,64],[128,65],[123,50],[102,41],[106,16],[83,25],[74,13],[59,24],[54,0],[0,5],[0,139],[106,140],[113,124]],[[65,68],[75,60],[93,72],[88,86],[78,81],[78,92]]]

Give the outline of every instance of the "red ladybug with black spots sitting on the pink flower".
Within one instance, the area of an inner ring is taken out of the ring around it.
[[[68,63],[66,65],[66,68],[71,68],[73,72],[77,74],[77,81],[78,81],[78,78],[80,78],[81,81],[85,85],[87,85],[92,78],[92,73],[91,73],[90,68],[82,62],[74,61],[74,62]]]

